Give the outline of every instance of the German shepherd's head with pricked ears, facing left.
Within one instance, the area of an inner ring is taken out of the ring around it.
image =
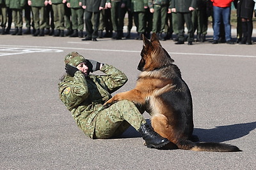
[[[174,62],[168,52],[161,46],[159,39],[155,32],[153,32],[151,39],[145,38],[142,35],[143,48],[141,50],[141,60],[138,65],[140,71],[152,71]]]

